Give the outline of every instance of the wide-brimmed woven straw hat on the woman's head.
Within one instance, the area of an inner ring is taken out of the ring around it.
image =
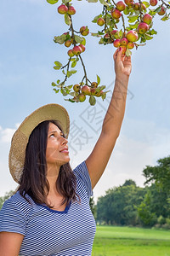
[[[70,119],[65,108],[59,104],[48,104],[38,108],[21,123],[11,141],[11,148],[8,155],[9,171],[14,181],[20,183],[20,177],[24,167],[26,145],[31,131],[45,120],[58,120],[65,137],[68,138]]]

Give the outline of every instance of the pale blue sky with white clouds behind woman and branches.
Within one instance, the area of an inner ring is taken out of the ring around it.
[[[97,31],[98,26],[91,20],[99,15],[102,6],[84,0],[73,3],[77,9],[73,16],[76,30],[88,25],[91,32]],[[50,5],[45,0],[1,1],[0,195],[16,187],[8,173],[10,139],[17,125],[34,109],[56,102],[68,110],[72,124],[69,141],[72,167],[88,157],[101,131],[111,93],[106,101],[99,99],[96,106],[91,107],[88,102],[65,102],[60,94],[54,94],[50,85],[59,79],[59,72],[53,69],[54,61],[67,61],[67,49],[53,41],[54,36],[68,28],[64,17],[57,13],[58,6],[59,3]],[[133,71],[121,135],[105,174],[94,189],[95,198],[104,195],[106,189],[124,183],[127,178],[133,178],[142,186],[144,166],[156,165],[157,159],[170,152],[169,20],[165,22],[156,17],[154,28],[158,32],[155,38],[146,46],[133,49]],[[99,45],[98,38],[88,35],[86,51],[82,55],[89,79],[96,80],[98,74],[101,84],[110,90],[113,90],[115,80],[114,51],[112,45]],[[78,73],[69,79],[70,83],[81,80],[82,73]],[[98,112],[99,123],[94,118]],[[74,136],[76,126],[80,131],[77,137]],[[88,137],[82,138],[83,134]]]

